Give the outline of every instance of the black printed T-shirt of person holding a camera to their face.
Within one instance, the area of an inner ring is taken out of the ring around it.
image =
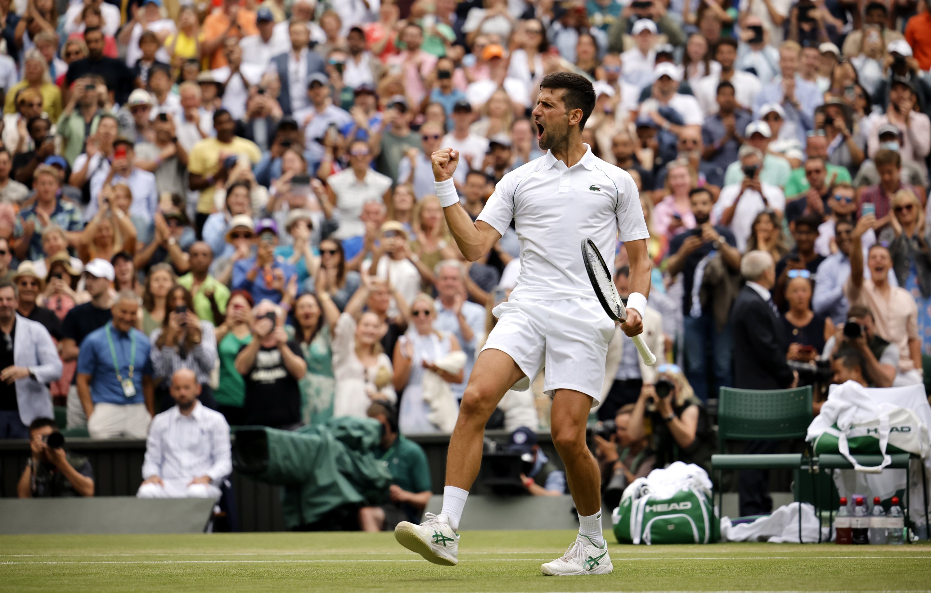
[[[248,344],[242,348],[246,347]],[[303,357],[301,344],[291,340],[288,347]],[[243,378],[246,380],[245,424],[284,428],[301,422],[301,388],[285,368],[277,346],[261,346],[252,370]]]

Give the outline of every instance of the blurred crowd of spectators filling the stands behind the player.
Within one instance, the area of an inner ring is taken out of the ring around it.
[[[530,112],[559,71],[593,81],[584,138],[641,190],[644,330],[670,363],[641,365],[616,333],[597,413],[656,457],[605,448],[606,464],[706,463],[721,386],[817,384],[836,353],[869,384],[920,384],[929,4],[4,0],[0,279],[19,317],[0,319],[0,438],[27,438],[53,400],[68,428],[144,438],[181,370],[229,425],[388,402],[402,434],[451,432],[520,239],[466,262],[429,157],[460,151],[477,217],[543,155]],[[741,290],[776,312],[772,381],[733,364],[754,354]],[[23,318],[54,339],[56,376],[17,352]],[[675,398],[654,405],[660,381]],[[539,384],[499,408],[492,426],[548,424]]]

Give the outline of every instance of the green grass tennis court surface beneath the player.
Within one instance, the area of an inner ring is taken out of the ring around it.
[[[0,591],[931,590],[927,545],[612,544],[609,576],[541,575],[573,538],[464,532],[460,564],[446,568],[391,533],[3,536]]]

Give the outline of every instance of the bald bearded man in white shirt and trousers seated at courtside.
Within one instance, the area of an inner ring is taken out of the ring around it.
[[[233,471],[230,427],[219,411],[197,400],[194,371],[171,377],[177,405],[155,416],[145,441],[137,498],[220,498],[219,484]]]

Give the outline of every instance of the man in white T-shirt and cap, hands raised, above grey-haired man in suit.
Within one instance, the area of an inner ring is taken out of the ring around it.
[[[734,233],[737,249],[747,249],[753,219],[763,210],[774,210],[781,216],[786,209],[786,196],[775,185],[760,181],[762,153],[747,144],[737,151],[743,164],[744,179],[725,185],[711,210],[711,221],[726,226]]]

